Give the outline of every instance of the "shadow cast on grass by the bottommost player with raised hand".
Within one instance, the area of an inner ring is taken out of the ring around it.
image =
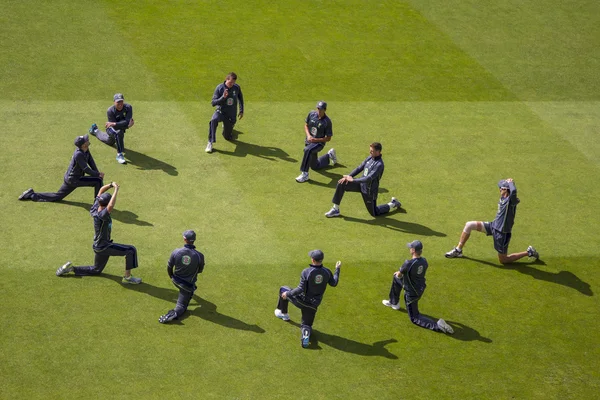
[[[290,324],[300,328],[300,324],[297,322],[290,321]],[[365,344],[313,329],[312,334],[310,335],[310,345],[308,348],[312,350],[321,350],[319,343],[325,343],[327,346],[333,347],[336,350],[358,354],[359,356],[379,356],[397,360],[398,356],[390,353],[388,349],[385,348],[388,344],[396,342],[398,342],[396,339],[388,339],[374,342],[373,344]]]

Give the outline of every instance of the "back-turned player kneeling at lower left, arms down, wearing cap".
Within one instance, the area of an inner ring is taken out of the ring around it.
[[[198,274],[204,271],[204,255],[196,250],[195,240],[196,232],[191,230],[183,232],[185,244],[171,253],[167,263],[167,272],[173,284],[179,289],[179,297],[175,308],[158,319],[161,324],[166,324],[183,315],[196,290]]]

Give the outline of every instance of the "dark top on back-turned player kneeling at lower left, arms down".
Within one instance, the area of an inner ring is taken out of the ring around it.
[[[198,274],[202,271],[204,271],[204,255],[196,250],[196,246],[185,244],[171,253],[167,272],[178,288],[193,292],[196,289]]]

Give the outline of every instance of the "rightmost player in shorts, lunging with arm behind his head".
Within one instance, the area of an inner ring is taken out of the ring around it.
[[[498,212],[492,222],[469,221],[460,235],[458,245],[446,253],[447,258],[460,258],[463,256],[462,249],[471,236],[471,231],[484,232],[487,236],[494,238],[494,249],[498,252],[498,260],[502,264],[508,264],[517,261],[523,257],[532,257],[539,259],[540,255],[533,248],[527,247],[526,251],[508,254],[508,244],[512,235],[512,227],[515,223],[517,213],[517,204],[520,200],[517,197],[517,187],[511,178],[503,179],[498,182],[500,189],[500,200],[498,201]]]

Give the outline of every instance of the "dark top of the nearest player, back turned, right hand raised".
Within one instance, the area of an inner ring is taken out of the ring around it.
[[[300,284],[290,290],[288,296],[296,297],[303,305],[316,310],[323,300],[327,285],[337,286],[339,278],[339,268],[332,273],[329,268],[322,265],[310,264],[300,274]]]

